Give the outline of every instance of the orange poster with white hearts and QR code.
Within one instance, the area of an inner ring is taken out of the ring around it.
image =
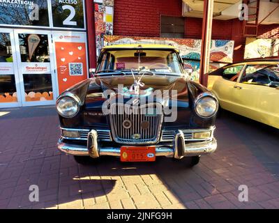
[[[87,79],[86,45],[70,40],[66,42],[63,36],[59,38],[63,41],[55,42],[55,54],[59,93],[62,93],[70,86]]]

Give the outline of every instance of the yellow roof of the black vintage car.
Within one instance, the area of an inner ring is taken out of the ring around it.
[[[103,47],[103,49],[139,49],[139,48],[144,48],[144,49],[174,49],[176,52],[179,52],[179,49],[172,46],[172,45],[163,45],[163,44],[119,44],[119,45],[109,45]]]

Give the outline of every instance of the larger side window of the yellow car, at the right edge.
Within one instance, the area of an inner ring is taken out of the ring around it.
[[[279,86],[278,66],[268,64],[247,66],[241,77],[241,83],[264,86],[273,84]]]

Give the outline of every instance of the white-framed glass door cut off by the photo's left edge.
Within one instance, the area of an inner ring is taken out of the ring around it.
[[[0,31],[0,107],[21,106],[13,29]]]

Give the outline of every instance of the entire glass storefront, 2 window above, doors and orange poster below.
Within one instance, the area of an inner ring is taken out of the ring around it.
[[[84,0],[0,0],[0,28],[0,108],[54,105],[86,79]]]

